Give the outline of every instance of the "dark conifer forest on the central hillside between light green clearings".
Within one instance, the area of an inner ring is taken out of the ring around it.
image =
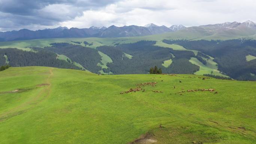
[[[189,62],[189,58],[195,57],[193,52],[162,48],[155,46],[155,43],[155,41],[140,41],[118,46],[100,46],[97,50],[113,59],[113,63],[107,66],[115,74],[149,73],[150,67],[155,65],[162,69],[162,73],[192,74],[199,70],[197,65]],[[125,57],[124,53],[132,55],[132,58]],[[173,64],[166,68],[162,63],[168,59],[173,59]]]

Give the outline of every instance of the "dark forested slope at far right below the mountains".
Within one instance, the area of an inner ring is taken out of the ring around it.
[[[233,79],[256,80],[256,59],[246,60],[247,55],[256,56],[256,40],[163,40],[168,44],[178,44],[186,49],[198,50],[214,57],[218,69]]]

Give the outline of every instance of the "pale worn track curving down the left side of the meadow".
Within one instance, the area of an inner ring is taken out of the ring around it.
[[[28,110],[31,110],[32,108],[36,107],[40,102],[44,101],[46,98],[49,97],[51,93],[51,77],[54,76],[54,73],[52,72],[54,68],[51,68],[49,70],[49,76],[46,78],[45,83],[37,85],[37,87],[44,87],[39,94],[34,96],[33,98],[29,99],[28,101],[10,109],[9,111],[0,114],[0,122],[10,119],[11,117],[23,114],[27,112]],[[18,92],[18,91],[16,91]],[[29,105],[33,104],[31,107]],[[28,107],[27,107],[28,106]]]

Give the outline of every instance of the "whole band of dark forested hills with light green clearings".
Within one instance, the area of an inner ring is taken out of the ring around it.
[[[72,43],[51,43],[44,48],[31,47],[31,51],[0,49],[0,65],[8,62],[12,67],[49,66],[102,74],[147,74],[157,66],[162,73],[256,80],[255,40],[162,40],[162,44],[168,45],[166,48],[158,45],[159,41],[146,40],[96,49],[86,47],[90,44],[86,41]]]

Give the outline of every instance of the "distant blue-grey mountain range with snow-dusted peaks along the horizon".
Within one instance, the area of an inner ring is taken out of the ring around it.
[[[256,24],[252,21],[225,22],[222,24],[209,24],[196,27],[185,27],[183,25],[172,25],[166,27],[155,24],[147,24],[144,27],[137,25],[116,27],[90,27],[90,28],[70,28],[58,27],[31,31],[22,29],[19,31],[0,32],[0,41],[30,40],[30,39],[51,39],[51,38],[74,38],[74,37],[132,37],[147,36],[152,34],[173,33],[200,33],[208,35],[226,36],[251,36],[256,34]]]

